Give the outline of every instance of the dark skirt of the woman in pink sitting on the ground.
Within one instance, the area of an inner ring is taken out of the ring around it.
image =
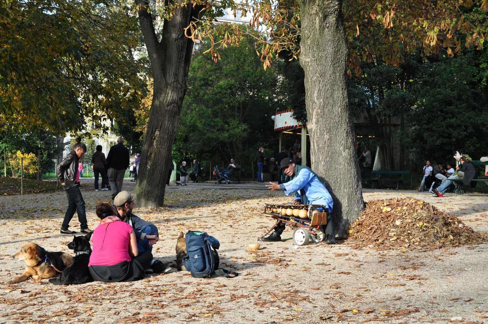
[[[95,281],[104,283],[136,281],[144,278],[144,269],[151,260],[152,254],[143,252],[136,258],[132,258],[130,262],[122,261],[113,265],[91,265],[89,269]]]

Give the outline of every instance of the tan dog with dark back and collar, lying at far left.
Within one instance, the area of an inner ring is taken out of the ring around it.
[[[20,252],[14,256],[14,259],[25,262],[27,266],[23,274],[7,282],[8,284],[17,284],[30,277],[34,280],[53,278],[59,272],[50,266],[51,263],[60,271],[63,271],[68,265],[73,263],[73,257],[70,254],[64,252],[47,252],[36,243],[28,243],[22,246]],[[50,263],[48,264],[46,261]]]

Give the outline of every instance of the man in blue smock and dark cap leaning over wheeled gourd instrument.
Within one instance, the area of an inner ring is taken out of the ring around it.
[[[295,199],[293,204],[314,204],[324,205],[328,209],[327,213],[327,225],[321,225],[322,231],[326,234],[325,243],[335,244],[334,236],[334,223],[330,213],[334,202],[332,196],[325,188],[324,183],[320,181],[315,172],[308,166],[297,165],[293,163],[292,159],[285,158],[281,160],[281,169],[284,170],[286,175],[292,177],[292,180],[282,184],[276,184],[269,182],[266,187],[271,190],[284,190],[285,195],[294,194]],[[321,211],[321,208],[318,208]],[[325,227],[325,228],[324,228]],[[275,242],[281,241],[281,234],[285,230],[285,223],[280,222],[274,229],[274,232],[270,236],[263,238],[263,241]]]

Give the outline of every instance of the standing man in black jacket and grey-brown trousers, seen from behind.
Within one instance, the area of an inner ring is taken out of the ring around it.
[[[110,147],[107,155],[108,183],[112,189],[112,199],[122,191],[125,170],[129,167],[129,149],[123,144],[123,137],[117,139],[117,144]]]

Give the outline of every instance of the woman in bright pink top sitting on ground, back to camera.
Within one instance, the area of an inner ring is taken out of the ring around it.
[[[142,279],[152,253],[138,251],[134,229],[114,216],[109,203],[98,203],[96,213],[100,225],[93,231],[93,252],[88,264],[93,279],[105,283]]]

